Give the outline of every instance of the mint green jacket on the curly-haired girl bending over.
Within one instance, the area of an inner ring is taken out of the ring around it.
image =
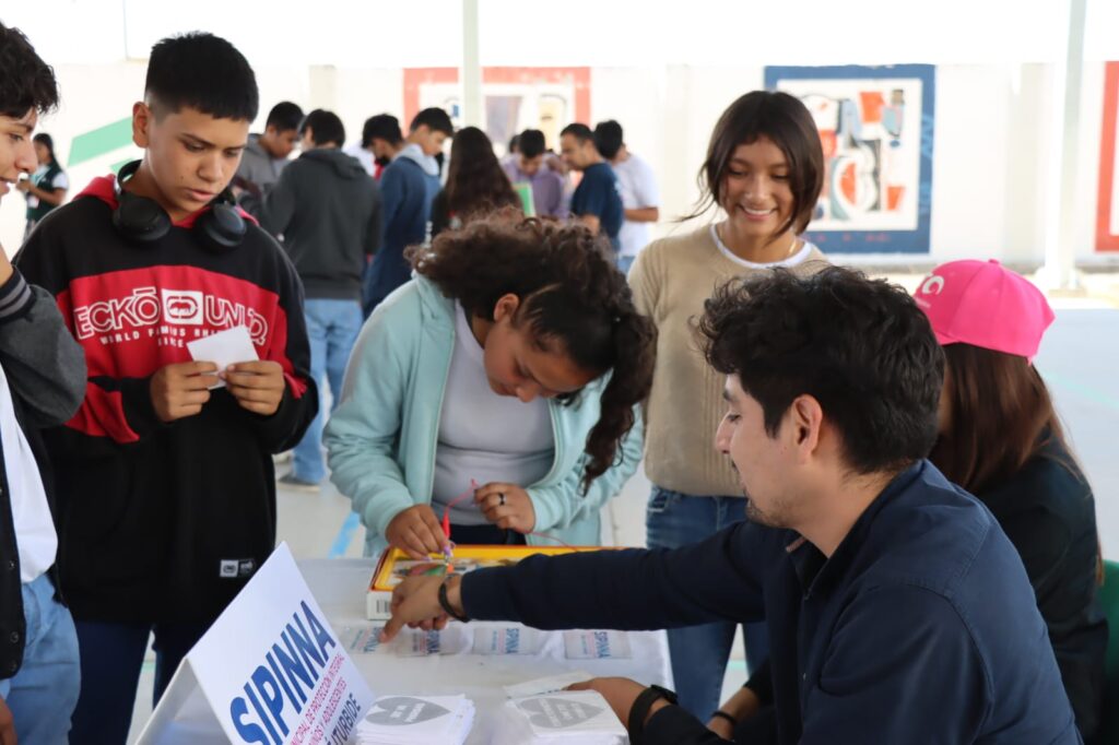
[[[366,527],[366,556],[377,556],[388,545],[385,529],[401,510],[431,503],[453,349],[454,301],[420,276],[377,307],[350,355],[342,399],[323,442],[331,481],[354,502]],[[572,546],[599,545],[599,511],[621,491],[641,459],[639,418],[622,442],[620,461],[582,494],[589,461],[583,447],[599,421],[605,379],[592,381],[572,404],[548,400],[555,460],[547,475],[525,489],[536,510],[533,530]],[[557,545],[537,536],[527,540],[533,546]]]

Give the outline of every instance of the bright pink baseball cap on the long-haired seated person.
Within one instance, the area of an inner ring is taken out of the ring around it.
[[[941,264],[913,298],[941,346],[966,343],[1027,359],[1054,319],[1037,287],[994,260]]]

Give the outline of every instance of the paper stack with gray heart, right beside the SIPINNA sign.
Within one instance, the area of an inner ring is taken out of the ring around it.
[[[358,745],[461,745],[474,724],[466,696],[383,696],[357,725]]]

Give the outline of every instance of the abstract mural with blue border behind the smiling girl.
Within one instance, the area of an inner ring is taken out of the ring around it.
[[[807,237],[830,253],[929,253],[935,67],[767,67],[820,132],[824,189]]]

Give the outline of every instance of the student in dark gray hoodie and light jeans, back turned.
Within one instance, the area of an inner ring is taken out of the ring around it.
[[[288,166],[264,200],[263,227],[282,236],[303,281],[303,313],[311,342],[311,375],[329,380],[335,404],[361,330],[361,272],[380,245],[382,198],[377,182],[340,150],[346,129],[336,114],[317,109],[300,124],[303,154]],[[280,482],[317,490],[322,461],[323,406],[295,446],[290,473]]]

